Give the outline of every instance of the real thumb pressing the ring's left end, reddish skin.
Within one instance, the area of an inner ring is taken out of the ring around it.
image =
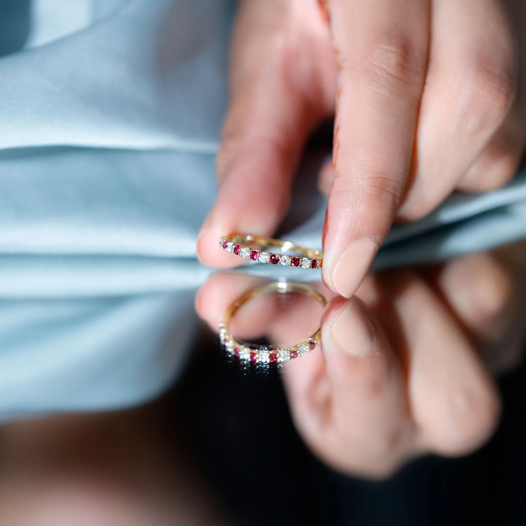
[[[297,11],[285,1],[255,0],[240,7],[232,42],[231,103],[216,161],[219,193],[197,242],[205,265],[239,264],[219,249],[222,236],[270,236],[276,230],[305,141],[332,112],[336,73],[327,72],[330,66],[336,72],[336,66],[327,26],[318,9]]]

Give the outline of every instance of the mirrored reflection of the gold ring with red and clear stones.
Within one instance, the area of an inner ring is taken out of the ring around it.
[[[325,296],[318,292],[314,287],[311,287],[306,283],[297,283],[295,281],[278,281],[251,289],[248,292],[245,292],[245,294],[239,296],[239,298],[237,298],[228,307],[224,321],[219,323],[219,339],[222,345],[225,346],[227,352],[231,356],[237,356],[239,359],[246,362],[251,361],[257,363],[275,363],[285,362],[293,358],[297,358],[298,356],[306,355],[312,349],[319,347],[320,329],[297,345],[293,345],[291,347],[240,343],[238,340],[236,340],[236,338],[234,338],[234,336],[230,334],[230,320],[239,307],[257,296],[268,294],[268,292],[301,292],[301,294],[305,294],[317,300],[322,307],[327,305]]]

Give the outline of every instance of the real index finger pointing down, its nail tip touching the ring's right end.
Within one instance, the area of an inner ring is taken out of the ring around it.
[[[406,190],[428,54],[429,3],[331,0],[339,62],[323,280],[354,294]]]

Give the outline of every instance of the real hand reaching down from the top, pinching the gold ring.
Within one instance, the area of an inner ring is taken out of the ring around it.
[[[524,2],[245,0],[232,40],[219,195],[198,239],[269,236],[311,131],[336,114],[323,281],[350,297],[393,219],[420,218],[454,188],[498,187],[526,142]],[[330,27],[328,19],[330,18]],[[514,26],[515,24],[516,26]]]

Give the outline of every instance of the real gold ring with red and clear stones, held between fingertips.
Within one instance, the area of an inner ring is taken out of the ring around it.
[[[259,245],[261,247],[280,248],[282,252],[296,252],[296,254],[300,254],[301,257],[265,252],[252,247],[247,247],[242,245],[242,243]],[[219,241],[219,246],[228,252],[232,252],[232,254],[241,256],[242,258],[251,259],[252,261],[261,261],[261,263],[270,263],[272,265],[278,265],[279,263],[286,267],[321,268],[321,262],[323,260],[323,252],[320,250],[302,247],[301,245],[296,245],[290,241],[271,239],[269,237],[234,234],[222,237]]]

